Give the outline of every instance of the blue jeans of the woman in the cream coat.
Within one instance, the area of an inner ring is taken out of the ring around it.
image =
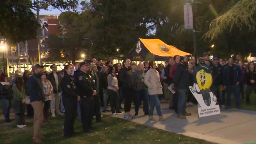
[[[153,116],[154,108],[156,107],[157,115],[162,116],[158,95],[149,95],[149,96],[150,96],[149,115]]]

